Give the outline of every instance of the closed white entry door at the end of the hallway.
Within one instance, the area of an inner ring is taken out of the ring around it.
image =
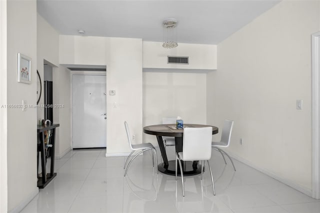
[[[106,147],[105,75],[72,75],[72,146]]]

